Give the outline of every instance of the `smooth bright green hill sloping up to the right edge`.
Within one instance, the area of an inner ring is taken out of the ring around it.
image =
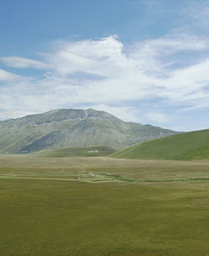
[[[209,159],[209,130],[191,131],[142,142],[111,155],[117,158],[198,160]]]

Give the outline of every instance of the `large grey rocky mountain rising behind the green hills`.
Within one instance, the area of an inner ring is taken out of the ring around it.
[[[104,111],[51,110],[0,122],[0,152],[28,153],[65,146],[124,148],[175,134],[152,125],[125,122]]]

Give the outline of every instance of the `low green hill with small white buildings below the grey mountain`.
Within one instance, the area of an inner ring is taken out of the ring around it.
[[[80,146],[63,147],[45,154],[49,157],[69,157],[69,156],[108,156],[115,152],[111,146]]]

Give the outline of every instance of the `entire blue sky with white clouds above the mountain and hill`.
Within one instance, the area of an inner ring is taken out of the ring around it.
[[[0,0],[0,120],[64,108],[209,129],[209,1]]]

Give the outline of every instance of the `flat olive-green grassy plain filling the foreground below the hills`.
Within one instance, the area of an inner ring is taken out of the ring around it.
[[[209,161],[1,156],[0,255],[209,255]]]

